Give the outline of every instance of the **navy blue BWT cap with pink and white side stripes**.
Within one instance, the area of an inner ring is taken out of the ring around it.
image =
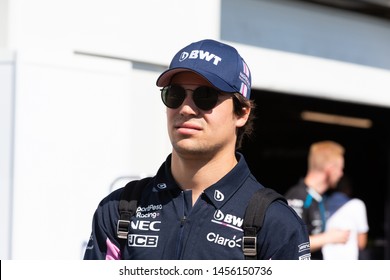
[[[223,92],[239,92],[250,97],[251,74],[244,59],[232,46],[214,40],[194,42],[181,49],[172,59],[169,69],[157,79],[157,86],[170,84],[172,77],[192,71]]]

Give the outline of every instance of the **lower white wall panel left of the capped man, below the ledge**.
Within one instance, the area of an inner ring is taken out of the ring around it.
[[[170,152],[158,73],[71,53],[20,52],[16,69],[12,258],[79,258],[115,179]]]

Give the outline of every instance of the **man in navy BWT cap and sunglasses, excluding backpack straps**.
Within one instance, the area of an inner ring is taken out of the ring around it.
[[[233,47],[202,40],[174,56],[157,86],[172,153],[142,192],[125,248],[116,238],[119,189],[100,203],[84,259],[244,259],[245,209],[263,188],[236,152],[252,126],[248,66]],[[275,201],[257,256],[308,259],[308,241],[294,210]]]

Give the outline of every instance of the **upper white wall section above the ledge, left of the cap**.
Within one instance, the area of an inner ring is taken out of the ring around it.
[[[13,0],[10,49],[71,49],[167,64],[219,38],[219,0]]]

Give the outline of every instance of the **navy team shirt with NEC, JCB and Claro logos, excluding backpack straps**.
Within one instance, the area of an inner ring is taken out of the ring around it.
[[[263,186],[243,155],[221,180],[208,187],[192,206],[191,191],[172,177],[171,156],[142,193],[129,226],[124,252],[116,237],[118,203],[123,189],[99,204],[84,259],[244,259],[241,228],[251,195]],[[310,259],[307,229],[295,211],[273,202],[257,237],[259,259]]]

